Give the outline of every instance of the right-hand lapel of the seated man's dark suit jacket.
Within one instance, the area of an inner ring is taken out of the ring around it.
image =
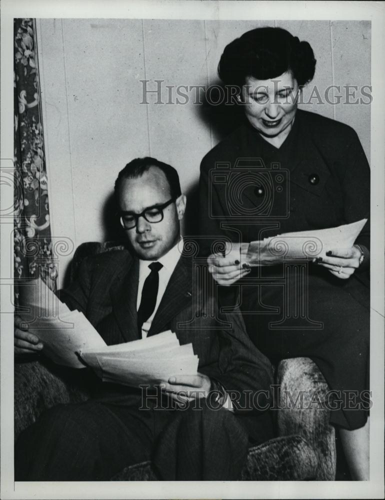
[[[152,320],[148,336],[164,330],[176,314],[191,302],[192,259],[181,255]]]

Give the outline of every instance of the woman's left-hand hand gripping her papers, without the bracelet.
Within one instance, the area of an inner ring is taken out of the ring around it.
[[[207,257],[208,270],[218,284],[230,286],[250,272],[250,266],[241,264],[238,256],[228,254],[225,257],[212,253]]]

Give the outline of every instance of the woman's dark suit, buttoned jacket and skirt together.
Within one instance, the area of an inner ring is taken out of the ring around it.
[[[356,243],[370,248],[370,170],[357,134],[312,112],[297,110],[279,149],[242,124],[202,159],[199,194],[205,253],[219,248],[211,245],[218,237],[249,242],[362,218],[368,221]],[[236,292],[250,338],[273,361],[308,356],[332,389],[366,390],[368,266],[339,279],[304,265],[300,289],[282,265],[254,268],[243,284],[226,288]],[[294,295],[300,311],[290,323],[285,307]],[[364,411],[331,412],[331,421],[347,428],[365,420]]]

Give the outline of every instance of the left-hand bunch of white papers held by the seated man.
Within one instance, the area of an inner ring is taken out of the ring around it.
[[[20,313],[28,330],[43,342],[44,355],[57,364],[83,368],[85,364],[77,352],[84,348],[106,347],[104,340],[77,311],[70,311],[39,278],[22,287]]]

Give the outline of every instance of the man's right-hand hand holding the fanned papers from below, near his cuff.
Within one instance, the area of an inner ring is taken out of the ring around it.
[[[211,381],[207,375],[171,376],[167,381],[159,384],[162,391],[166,392],[176,403],[185,405],[187,401],[207,397]]]

